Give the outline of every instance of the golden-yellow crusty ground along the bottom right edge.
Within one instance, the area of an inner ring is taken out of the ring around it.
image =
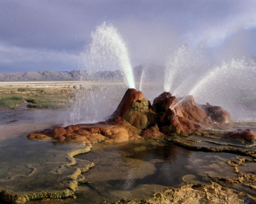
[[[127,201],[121,199],[112,204],[170,204],[170,203],[241,203],[247,197],[245,193],[222,187],[212,182],[210,185],[185,184],[180,188],[168,188],[163,192],[155,192],[152,198]],[[250,203],[255,203],[256,198],[250,196]]]

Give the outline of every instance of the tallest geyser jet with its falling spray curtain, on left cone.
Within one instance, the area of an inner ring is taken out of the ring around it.
[[[125,41],[117,31],[117,28],[106,23],[97,27],[92,32],[92,42],[85,47],[81,53],[81,69],[90,76],[90,73],[97,71],[115,71],[122,69],[125,82],[129,88],[135,88],[133,69],[130,64],[129,52]],[[120,95],[125,91],[121,81],[115,81],[113,86],[106,83],[108,78],[96,76],[93,79],[81,78],[81,81],[92,80],[86,87],[77,91],[72,107],[68,111],[65,125],[77,123],[92,123],[104,120],[113,113],[121,99]],[[93,86],[94,80],[97,80],[97,86]],[[120,94],[119,94],[120,93]],[[111,104],[106,107],[105,104]]]

